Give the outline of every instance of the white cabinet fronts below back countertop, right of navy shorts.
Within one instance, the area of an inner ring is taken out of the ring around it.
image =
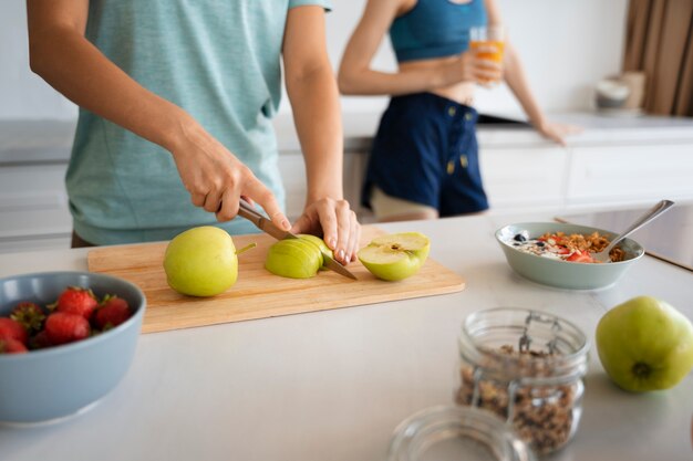
[[[693,139],[480,151],[492,213],[693,201]]]

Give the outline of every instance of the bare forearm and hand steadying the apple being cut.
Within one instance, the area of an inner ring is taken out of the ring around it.
[[[292,230],[322,231],[337,259],[349,262],[355,258],[360,226],[343,199],[339,92],[328,57],[321,7],[297,7],[289,11],[283,61],[308,179],[306,209]]]

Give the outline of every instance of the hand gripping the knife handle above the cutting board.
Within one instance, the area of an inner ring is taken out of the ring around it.
[[[291,228],[272,192],[196,122],[180,124],[180,133],[168,150],[193,205],[216,213],[217,220],[234,219],[242,196],[259,203],[280,229]]]

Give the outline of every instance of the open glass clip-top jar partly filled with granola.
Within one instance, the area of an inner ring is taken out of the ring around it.
[[[568,443],[582,411],[587,336],[570,322],[524,308],[467,316],[459,335],[458,405],[483,408],[542,455]]]

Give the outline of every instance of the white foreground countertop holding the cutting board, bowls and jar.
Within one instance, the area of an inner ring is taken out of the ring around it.
[[[400,421],[453,402],[457,333],[476,310],[551,312],[590,338],[609,307],[641,294],[666,300],[693,318],[692,273],[650,256],[602,291],[571,292],[519,277],[494,231],[536,218],[486,214],[380,224],[428,234],[431,258],[464,276],[466,289],[142,335],[125,379],[100,405],[55,426],[0,428],[0,458],[384,460]],[[85,254],[0,254],[0,276],[84,270]],[[668,391],[628,394],[609,381],[592,344],[582,421],[551,460],[691,460],[693,374]]]

